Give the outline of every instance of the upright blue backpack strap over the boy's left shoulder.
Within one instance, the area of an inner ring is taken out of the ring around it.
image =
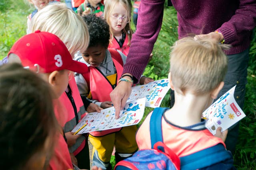
[[[168,107],[156,107],[150,117],[150,140],[151,149],[154,149],[154,144],[158,141],[163,142],[162,133],[162,116]]]

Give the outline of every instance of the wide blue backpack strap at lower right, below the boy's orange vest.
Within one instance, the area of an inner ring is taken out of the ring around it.
[[[200,169],[231,158],[232,154],[225,149],[224,145],[219,143],[213,147],[200,150],[188,156],[180,157],[180,169]]]

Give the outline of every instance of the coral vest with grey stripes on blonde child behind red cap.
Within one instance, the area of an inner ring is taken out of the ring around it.
[[[77,88],[77,85],[75,82],[75,78],[72,77],[72,79],[68,81],[68,84],[72,91],[72,97],[73,97],[75,105],[76,105],[78,120],[80,120],[82,117],[85,116],[86,111],[85,111],[82,99],[80,97],[80,94],[79,94],[79,91],[78,91],[78,88]],[[66,107],[67,113],[68,113],[68,119],[64,125],[64,132],[65,133],[70,132],[74,129],[74,127],[77,124],[76,116],[74,113],[74,108],[65,92],[60,96],[60,102],[62,102],[64,104],[64,106]],[[79,137],[76,140],[76,143],[73,146],[68,148],[69,152],[74,153],[74,155],[78,154],[84,148],[84,145],[85,145],[84,139],[85,139],[84,136]]]

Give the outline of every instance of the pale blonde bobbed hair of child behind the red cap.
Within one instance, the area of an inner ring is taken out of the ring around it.
[[[84,20],[65,3],[50,3],[32,18],[32,32],[46,31],[57,35],[72,54],[84,51],[89,44],[88,27]]]

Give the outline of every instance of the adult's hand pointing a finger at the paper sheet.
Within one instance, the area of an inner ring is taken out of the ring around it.
[[[116,110],[116,119],[119,118],[120,110],[124,109],[126,101],[132,92],[131,82],[121,81],[110,93],[110,98]]]

